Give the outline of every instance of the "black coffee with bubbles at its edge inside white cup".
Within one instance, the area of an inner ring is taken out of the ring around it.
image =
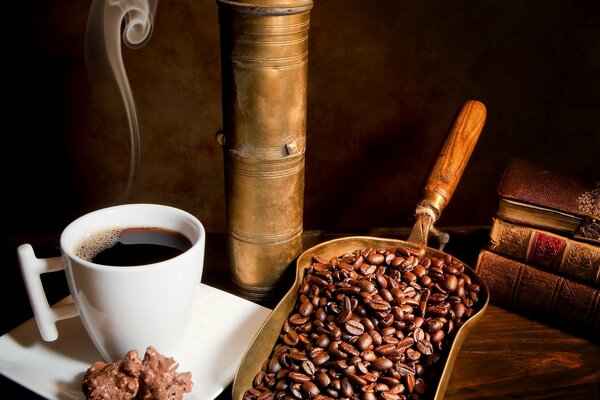
[[[164,228],[114,229],[93,235],[76,254],[95,264],[128,267],[176,257],[192,247],[183,234]]]

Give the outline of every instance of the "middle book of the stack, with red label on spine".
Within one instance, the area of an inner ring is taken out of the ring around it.
[[[488,249],[600,288],[600,246],[494,218]]]

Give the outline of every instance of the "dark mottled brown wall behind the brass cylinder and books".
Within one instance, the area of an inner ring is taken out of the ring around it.
[[[90,1],[2,13],[2,234],[58,232],[124,201],[129,133],[89,76]],[[590,7],[592,2],[589,2]],[[218,5],[161,0],[150,42],[123,47],[141,128],[130,201],[225,230]],[[511,157],[600,173],[600,14],[582,2],[315,1],[309,37],[305,229],[412,224],[417,195],[468,99],[488,119],[439,225],[488,225]]]

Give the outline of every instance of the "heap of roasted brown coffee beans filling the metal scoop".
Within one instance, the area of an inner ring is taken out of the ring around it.
[[[424,249],[315,256],[244,400],[427,398],[479,294],[463,263]]]

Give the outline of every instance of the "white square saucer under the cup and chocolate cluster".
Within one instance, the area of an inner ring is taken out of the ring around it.
[[[61,303],[69,301],[70,296]],[[182,346],[185,355],[174,357],[178,372],[192,372],[193,389],[186,400],[212,400],[233,381],[246,348],[270,313],[241,297],[199,285]],[[57,328],[58,339],[45,342],[31,318],[0,337],[0,373],[50,400],[85,399],[83,376],[102,357],[79,318],[59,321]]]

